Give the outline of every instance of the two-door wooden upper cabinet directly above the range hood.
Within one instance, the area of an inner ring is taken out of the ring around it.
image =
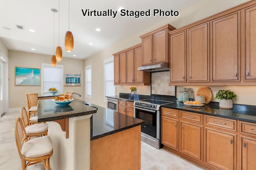
[[[169,62],[168,32],[175,28],[168,24],[140,36],[142,39],[142,65]]]

